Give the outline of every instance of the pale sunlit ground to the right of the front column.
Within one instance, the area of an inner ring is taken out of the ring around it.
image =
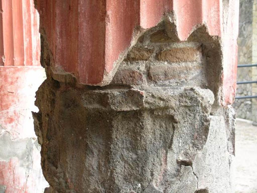
[[[242,119],[236,123],[235,192],[257,193],[257,127]]]

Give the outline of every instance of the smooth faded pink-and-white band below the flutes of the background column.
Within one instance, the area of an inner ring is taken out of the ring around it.
[[[35,137],[31,111],[44,79],[42,67],[0,67],[0,125],[13,139]]]

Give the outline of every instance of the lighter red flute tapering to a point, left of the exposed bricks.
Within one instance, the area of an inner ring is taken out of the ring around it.
[[[140,2],[108,0],[106,9],[105,70],[111,72],[119,54],[130,45],[134,27],[139,25]]]

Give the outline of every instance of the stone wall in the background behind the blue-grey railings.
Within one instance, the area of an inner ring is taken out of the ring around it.
[[[240,1],[240,14],[239,14],[239,35],[238,35],[238,64],[251,64],[254,62],[254,27],[253,22],[253,2],[254,0],[241,0]],[[255,3],[256,4],[256,3]],[[256,6],[256,5],[255,5]],[[257,31],[255,29],[255,31]],[[255,38],[256,39],[256,38]],[[256,50],[256,48],[255,48]],[[250,81],[256,80],[254,78],[254,71],[256,67],[245,67],[237,69],[237,81]],[[256,77],[256,75],[255,75]],[[251,96],[254,95],[254,86],[256,84],[242,84],[237,85],[237,96]],[[236,110],[238,118],[256,121],[256,99],[236,99],[233,107]]]

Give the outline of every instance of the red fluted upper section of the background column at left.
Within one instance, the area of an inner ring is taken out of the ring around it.
[[[39,14],[33,0],[0,0],[0,8],[0,66],[40,66]]]

